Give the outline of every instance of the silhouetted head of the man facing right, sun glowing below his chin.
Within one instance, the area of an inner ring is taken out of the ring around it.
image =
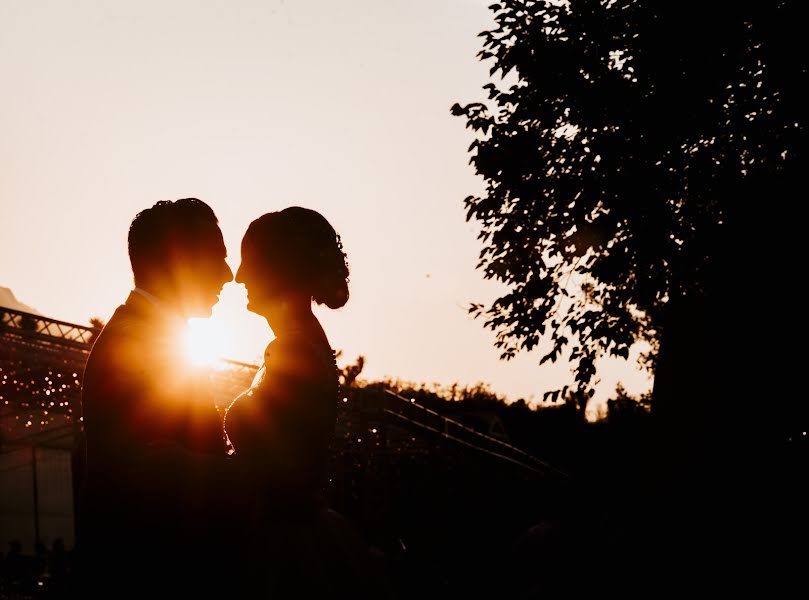
[[[233,279],[211,207],[196,198],[161,200],[129,227],[135,285],[186,317],[209,317],[222,286]]]

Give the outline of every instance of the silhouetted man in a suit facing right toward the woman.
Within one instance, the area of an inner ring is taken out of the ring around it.
[[[182,331],[189,317],[211,315],[233,279],[226,254],[214,212],[198,199],[161,201],[132,221],[135,289],[84,371],[77,550],[88,593],[213,589],[204,577],[221,566],[228,459],[210,390],[183,357]]]

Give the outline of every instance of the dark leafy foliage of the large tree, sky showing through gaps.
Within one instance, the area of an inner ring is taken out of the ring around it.
[[[639,340],[654,356],[670,300],[702,291],[728,229],[774,208],[744,189],[801,154],[797,2],[490,9],[488,101],[452,113],[485,182],[465,200],[478,267],[508,291],[470,312],[504,359],[542,341],[541,362],[569,359],[589,393],[600,357]]]

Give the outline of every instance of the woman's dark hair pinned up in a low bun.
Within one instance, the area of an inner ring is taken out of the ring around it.
[[[340,234],[319,212],[300,206],[262,215],[245,234],[273,283],[311,294],[318,304],[348,302],[348,262]]]

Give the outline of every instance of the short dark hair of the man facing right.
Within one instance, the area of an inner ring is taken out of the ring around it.
[[[135,284],[172,249],[192,252],[218,223],[213,209],[197,198],[160,200],[139,212],[129,226],[129,260]]]

